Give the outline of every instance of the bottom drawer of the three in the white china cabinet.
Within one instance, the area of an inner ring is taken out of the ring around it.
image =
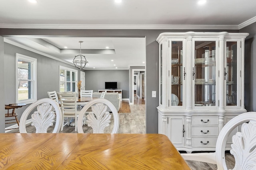
[[[215,147],[217,137],[192,137],[192,147]]]

